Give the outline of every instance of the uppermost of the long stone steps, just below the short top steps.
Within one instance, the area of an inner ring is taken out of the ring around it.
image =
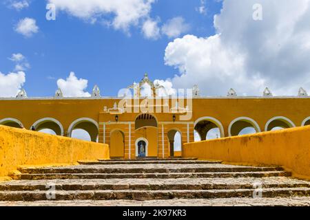
[[[132,165],[133,166],[133,165]],[[187,165],[189,166],[189,165]],[[57,173],[96,173],[96,174],[119,174],[119,173],[229,173],[229,172],[263,172],[280,171],[281,167],[251,167],[251,166],[200,166],[200,167],[124,167],[115,166],[72,166],[72,167],[52,167],[52,168],[20,168],[21,173],[28,174],[57,174]]]

